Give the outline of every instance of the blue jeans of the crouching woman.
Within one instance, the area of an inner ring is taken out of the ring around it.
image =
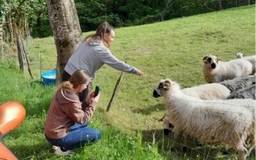
[[[52,145],[63,147],[65,150],[91,145],[100,140],[101,132],[97,129],[87,127],[88,122],[83,125],[74,124],[70,127],[67,136],[58,139],[52,139],[45,135],[45,138]]]

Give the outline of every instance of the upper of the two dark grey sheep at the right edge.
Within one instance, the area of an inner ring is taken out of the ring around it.
[[[246,77],[236,77],[234,79],[226,80],[221,82],[220,84],[226,86],[230,92],[235,92],[237,90],[241,90],[248,86],[252,86],[255,84],[255,75],[246,76]]]

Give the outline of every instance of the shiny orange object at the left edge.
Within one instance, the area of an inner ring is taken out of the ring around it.
[[[0,105],[0,159],[17,159],[2,140],[8,132],[22,123],[25,116],[26,110],[19,102],[10,101]]]

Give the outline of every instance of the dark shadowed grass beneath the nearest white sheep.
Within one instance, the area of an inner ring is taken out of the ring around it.
[[[156,143],[158,152],[166,159],[236,159],[237,152],[229,148],[227,155],[224,154],[225,148],[220,143],[198,143],[195,138],[187,138],[188,145],[184,152],[182,144],[183,135],[179,135],[178,140],[174,140],[173,132],[168,136],[163,134],[163,130],[152,129],[141,131],[142,140],[145,143]],[[173,144],[173,147],[171,147]],[[246,159],[255,159],[255,149]]]

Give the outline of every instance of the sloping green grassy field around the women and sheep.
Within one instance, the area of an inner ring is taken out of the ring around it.
[[[15,54],[2,58],[0,63],[0,102],[17,100],[27,111],[26,120],[6,136],[4,143],[19,159],[63,159],[54,156],[43,132],[56,89],[42,86],[40,73],[56,68],[54,39],[31,38],[26,51],[33,81],[27,70],[25,76],[17,72]],[[118,95],[106,112],[121,72],[107,65],[100,68],[93,86],[100,86],[101,96],[91,126],[100,129],[103,138],[95,145],[75,150],[77,154],[67,159],[235,159],[232,149],[224,156],[219,144],[199,147],[195,140],[189,141],[186,154],[179,144],[176,150],[170,150],[172,136],[163,136],[163,124],[153,119],[163,116],[163,99],[154,99],[152,92],[165,78],[183,88],[204,84],[202,58],[208,54],[223,61],[235,59],[236,52],[255,54],[255,5],[118,28],[111,51],[144,75],[125,73]],[[248,159],[255,159],[255,150]]]

